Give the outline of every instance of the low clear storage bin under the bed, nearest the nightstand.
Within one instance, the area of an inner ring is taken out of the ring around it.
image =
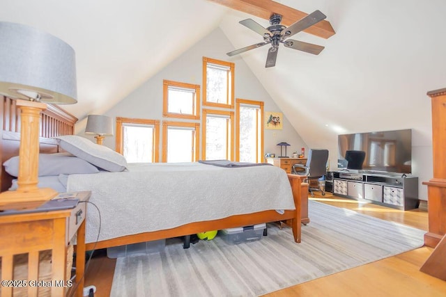
[[[153,252],[162,252],[165,247],[166,239],[114,246],[107,248],[107,257],[114,259],[135,254],[151,254]]]

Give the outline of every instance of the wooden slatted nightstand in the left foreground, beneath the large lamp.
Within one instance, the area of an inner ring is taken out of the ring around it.
[[[0,213],[1,296],[12,296],[17,287],[26,287],[27,296],[37,296],[38,288],[51,287],[51,296],[66,296],[77,284],[83,296],[85,268],[85,216],[90,191],[60,194],[37,209]],[[60,203],[63,204],[59,207]],[[67,251],[77,234],[76,284],[66,279]],[[38,282],[39,252],[52,250],[50,283]],[[14,255],[28,254],[28,279],[14,280]],[[7,282],[5,282],[7,281]],[[9,281],[9,283],[8,283]]]

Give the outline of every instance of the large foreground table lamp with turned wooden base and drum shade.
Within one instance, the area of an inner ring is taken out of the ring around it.
[[[0,95],[17,99],[21,111],[18,188],[0,193],[0,209],[36,207],[57,195],[37,186],[40,112],[47,108],[43,102],[77,102],[75,51],[53,35],[10,22],[0,22],[0,40]]]

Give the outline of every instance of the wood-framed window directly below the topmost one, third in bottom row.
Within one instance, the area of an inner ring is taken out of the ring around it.
[[[233,160],[233,115],[233,111],[203,109],[204,160]]]

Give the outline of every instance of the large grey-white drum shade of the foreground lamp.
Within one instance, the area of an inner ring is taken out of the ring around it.
[[[77,102],[75,51],[23,24],[0,22],[0,94],[54,104]],[[31,94],[31,96],[30,96]]]

